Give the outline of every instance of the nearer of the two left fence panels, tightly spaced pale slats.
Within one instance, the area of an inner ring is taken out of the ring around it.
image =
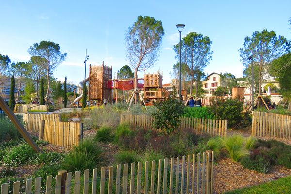
[[[82,124],[46,120],[43,140],[61,147],[78,145],[82,139]]]

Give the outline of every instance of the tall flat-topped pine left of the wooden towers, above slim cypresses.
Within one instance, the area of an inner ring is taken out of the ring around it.
[[[28,49],[28,52],[31,56],[38,56],[46,60],[46,64],[43,64],[43,68],[46,69],[47,75],[47,94],[46,94],[46,103],[49,103],[49,89],[50,89],[50,80],[49,77],[53,74],[53,71],[56,67],[65,60],[66,53],[61,54],[60,46],[57,43],[52,41],[41,41],[39,44],[34,43],[33,47]]]

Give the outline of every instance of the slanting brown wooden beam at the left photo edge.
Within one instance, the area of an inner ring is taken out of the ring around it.
[[[11,109],[8,107],[6,102],[4,101],[3,97],[0,95],[0,107],[3,109],[3,111],[7,114],[8,118],[11,120],[11,122],[14,124],[16,129],[19,131],[19,133],[22,135],[22,137],[25,139],[25,141],[32,147],[32,149],[36,152],[41,152],[39,147],[35,144],[35,142],[32,140],[31,136],[28,134],[28,132],[24,129],[24,127],[21,125],[15,114],[11,111]]]

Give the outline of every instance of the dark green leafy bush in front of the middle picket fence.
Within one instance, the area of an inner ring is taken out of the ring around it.
[[[166,133],[175,132],[180,125],[180,117],[184,112],[184,104],[178,99],[169,98],[168,100],[155,103],[157,113],[153,114],[154,127],[162,129]]]

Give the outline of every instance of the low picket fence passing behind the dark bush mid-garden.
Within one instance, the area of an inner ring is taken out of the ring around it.
[[[149,115],[121,115],[120,122],[128,122],[130,125],[143,128],[152,128],[154,119]],[[209,133],[213,136],[227,135],[227,120],[212,120],[201,118],[181,117],[181,129],[193,129],[198,133]]]

